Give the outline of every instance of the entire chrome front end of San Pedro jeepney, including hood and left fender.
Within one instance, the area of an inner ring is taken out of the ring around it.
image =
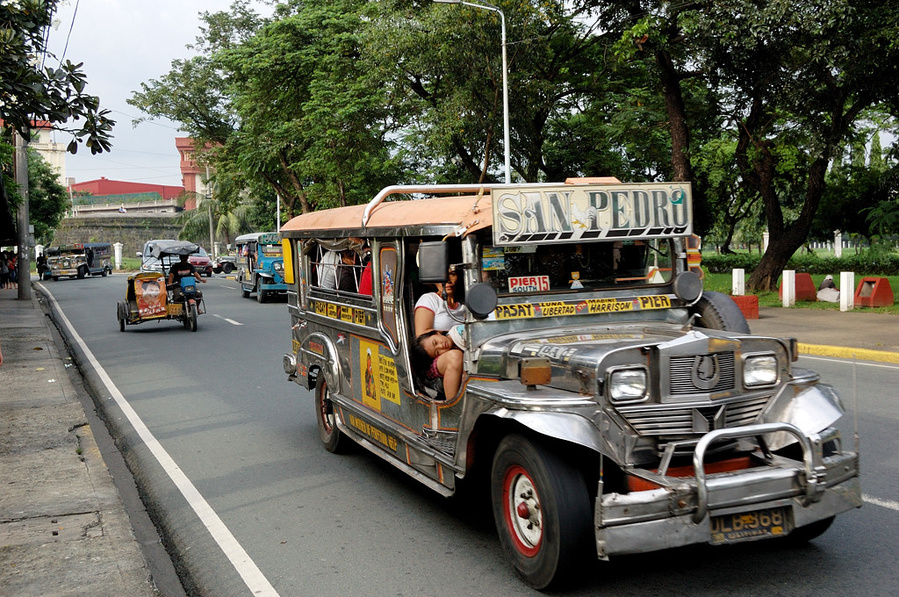
[[[522,393],[521,412],[504,416],[602,453],[601,558],[787,535],[861,505],[857,455],[832,426],[840,399],[792,367],[788,341],[664,322],[548,332],[488,342],[482,365],[514,378],[521,361],[549,359],[551,387]],[[531,423],[549,411],[586,423],[588,394],[593,438],[585,424]],[[505,392],[505,411],[515,395]]]

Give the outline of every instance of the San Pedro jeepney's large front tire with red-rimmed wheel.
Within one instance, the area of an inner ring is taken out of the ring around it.
[[[543,590],[583,569],[593,513],[583,475],[521,435],[500,442],[490,479],[493,517],[515,573]]]

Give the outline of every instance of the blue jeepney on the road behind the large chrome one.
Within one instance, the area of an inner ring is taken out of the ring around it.
[[[256,300],[264,303],[270,296],[287,294],[280,234],[243,234],[234,240],[234,244],[237,246],[237,283],[244,298],[256,293]]]

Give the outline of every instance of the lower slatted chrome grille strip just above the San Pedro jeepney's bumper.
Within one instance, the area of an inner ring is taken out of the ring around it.
[[[657,404],[641,404],[638,406],[618,407],[618,412],[642,436],[690,435],[705,433],[714,428],[715,415],[724,409],[724,427],[739,427],[754,423],[771,396],[753,398],[736,398],[730,401],[715,401],[715,404],[695,404],[692,406],[664,406]],[[708,429],[696,426],[708,425]]]

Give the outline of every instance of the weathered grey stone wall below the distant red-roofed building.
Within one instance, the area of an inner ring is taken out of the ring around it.
[[[135,257],[153,238],[178,238],[181,227],[172,216],[128,216],[64,218],[50,246],[72,243],[122,243],[123,257]]]

